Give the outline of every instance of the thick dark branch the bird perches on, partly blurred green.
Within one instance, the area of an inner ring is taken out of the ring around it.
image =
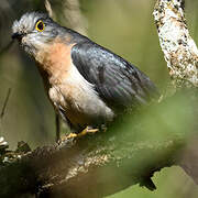
[[[95,198],[134,184],[154,189],[153,173],[177,164],[189,135],[186,129],[193,125],[191,112],[197,108],[186,103],[186,97],[175,96],[135,116],[128,114],[107,132],[28,154],[19,148],[12,155],[8,152],[0,168],[0,197],[35,193],[40,197]],[[173,122],[173,118],[177,120]]]

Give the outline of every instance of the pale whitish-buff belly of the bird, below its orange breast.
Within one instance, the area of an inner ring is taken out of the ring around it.
[[[111,121],[112,110],[98,97],[90,85],[77,70],[72,67],[62,84],[52,85],[48,90],[50,99],[55,108],[64,110],[64,116],[73,123],[91,125],[92,122]]]

